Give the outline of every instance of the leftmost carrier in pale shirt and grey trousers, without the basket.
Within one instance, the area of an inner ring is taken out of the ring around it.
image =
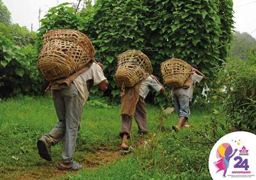
[[[93,82],[99,89],[105,91],[108,82],[103,74],[101,66],[93,63],[85,71],[75,73],[69,86],[63,89],[53,89],[53,102],[58,117],[57,125],[50,133],[43,135],[37,142],[38,153],[47,161],[51,161],[51,146],[64,140],[62,148],[62,159],[57,165],[60,170],[78,170],[82,165],[73,161],[75,143],[81,123],[83,105],[89,96],[87,82]],[[68,79],[68,78],[67,78]],[[66,80],[66,79],[63,79]]]

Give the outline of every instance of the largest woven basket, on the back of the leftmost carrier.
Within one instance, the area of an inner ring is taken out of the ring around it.
[[[76,30],[51,30],[43,35],[38,68],[47,81],[67,78],[93,61],[95,51],[89,38]]]

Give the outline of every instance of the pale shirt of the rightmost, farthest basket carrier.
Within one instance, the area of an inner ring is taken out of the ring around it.
[[[176,88],[176,89],[173,90],[173,94],[186,95],[187,97],[189,97],[189,101],[192,101],[194,85],[197,82],[198,83],[201,82],[202,79],[203,79],[202,75],[198,75],[197,73],[193,73],[192,74],[192,83],[189,86],[189,88],[188,89],[184,89],[182,87]]]

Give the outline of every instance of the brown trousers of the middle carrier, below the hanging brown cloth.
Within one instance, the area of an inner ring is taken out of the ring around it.
[[[130,137],[131,122],[133,117],[127,114],[122,114],[122,127],[119,135],[123,137],[123,134],[127,134]],[[144,99],[139,96],[139,100],[136,104],[136,109],[134,113],[134,119],[138,125],[138,134],[147,134],[147,113],[146,113],[146,104]]]

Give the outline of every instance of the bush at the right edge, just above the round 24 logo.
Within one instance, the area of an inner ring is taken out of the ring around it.
[[[229,58],[218,70],[218,83],[225,87],[220,97],[229,130],[256,132],[256,56]]]

